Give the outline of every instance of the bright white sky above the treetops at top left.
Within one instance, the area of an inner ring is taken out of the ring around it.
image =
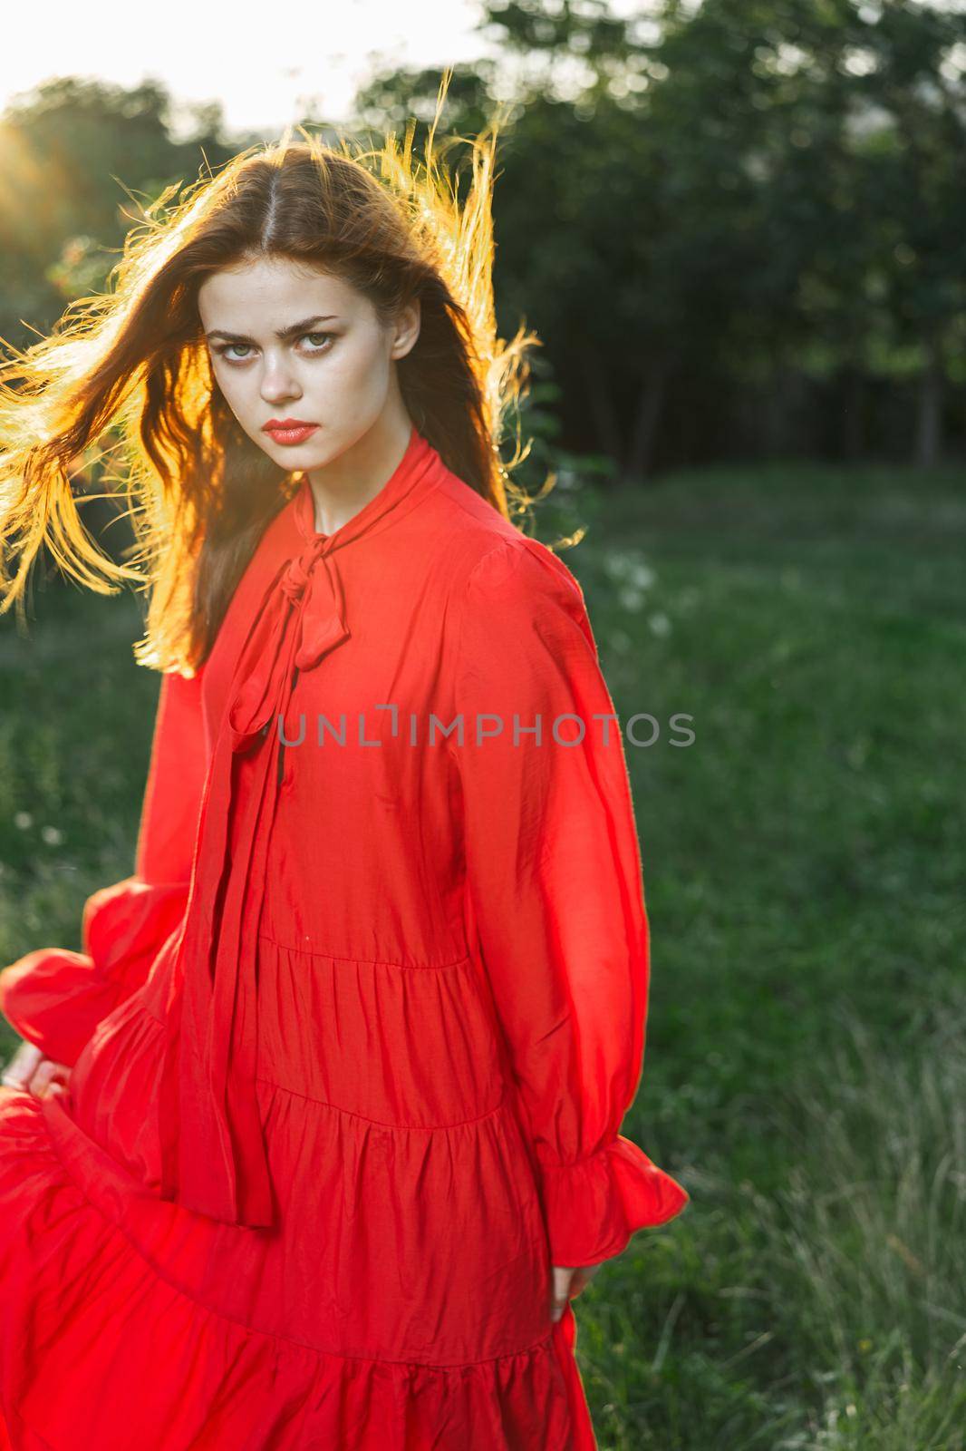
[[[616,15],[648,0],[611,0]],[[392,65],[470,61],[480,0],[35,0],[0,48],[0,109],[57,75],[135,86],[160,78],[183,102],[220,100],[231,131],[280,131],[303,115],[348,119],[357,87]]]

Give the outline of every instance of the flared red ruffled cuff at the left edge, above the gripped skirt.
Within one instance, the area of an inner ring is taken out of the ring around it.
[[[73,1066],[94,1029],[148,978],[181,923],[187,882],[126,876],[84,903],[83,950],[36,948],[0,971],[0,1013],[26,1042]]]

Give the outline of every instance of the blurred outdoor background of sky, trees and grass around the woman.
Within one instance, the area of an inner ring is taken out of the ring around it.
[[[445,65],[444,129],[509,103],[498,321],[542,341],[518,476],[556,476],[535,533],[576,541],[621,720],[661,727],[627,744],[653,984],[624,1132],[692,1204],[577,1302],[600,1447],[962,1448],[966,7],[347,0],[276,33],[171,0],[146,54],[129,7],[54,12],[0,59],[13,347],[205,164],[292,122],[422,132]],[[132,871],[141,621],[49,564],[29,630],[0,618],[3,963],[77,948]]]

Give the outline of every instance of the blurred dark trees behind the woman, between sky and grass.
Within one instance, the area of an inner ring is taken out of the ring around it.
[[[689,460],[930,464],[962,447],[960,9],[659,0],[618,17],[605,0],[489,0],[480,36],[445,123],[471,135],[492,97],[511,103],[500,331],[537,328],[573,453],[634,485]],[[438,84],[373,75],[355,129],[426,128]],[[103,281],[145,197],[235,149],[216,104],[193,131],[176,119],[157,81],[67,77],[9,109],[0,337],[48,328]]]

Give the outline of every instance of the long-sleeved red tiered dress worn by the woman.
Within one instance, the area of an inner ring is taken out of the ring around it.
[[[618,1133],[615,721],[573,575],[416,429],[334,534],[302,480],[162,676],[135,875],[0,974],[73,1064],[0,1090],[15,1451],[596,1445],[551,1264],[688,1200]]]

